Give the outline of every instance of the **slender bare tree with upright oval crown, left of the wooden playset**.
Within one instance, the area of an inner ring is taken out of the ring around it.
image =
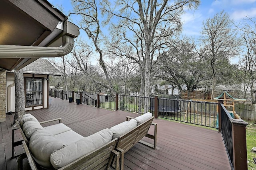
[[[216,13],[213,18],[208,18],[203,22],[201,35],[198,54],[210,63],[211,99],[213,99],[219,76],[216,68],[217,62],[237,55],[240,41],[236,37],[236,31],[232,30],[232,20],[224,11]],[[225,68],[225,65],[222,64],[222,68]]]

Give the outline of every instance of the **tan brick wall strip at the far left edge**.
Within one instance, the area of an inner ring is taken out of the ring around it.
[[[5,121],[6,114],[6,71],[0,72],[0,122]]]

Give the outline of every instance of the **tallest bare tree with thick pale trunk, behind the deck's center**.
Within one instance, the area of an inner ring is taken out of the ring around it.
[[[103,1],[103,12],[109,14],[112,23],[113,48],[121,56],[138,63],[141,73],[141,95],[150,96],[150,80],[156,72],[158,57],[164,49],[172,46],[172,38],[182,29],[180,16],[185,8],[196,8],[199,0],[119,0]],[[115,38],[114,38],[115,37]],[[134,48],[134,58],[122,51],[122,45]],[[120,48],[121,47],[121,48]]]

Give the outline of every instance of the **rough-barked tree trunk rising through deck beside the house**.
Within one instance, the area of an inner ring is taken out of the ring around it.
[[[17,120],[18,122],[20,122],[22,115],[25,114],[25,91],[24,91],[24,78],[23,78],[22,69],[14,71],[14,81],[15,81],[14,120]]]

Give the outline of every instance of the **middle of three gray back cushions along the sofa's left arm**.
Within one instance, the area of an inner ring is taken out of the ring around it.
[[[31,135],[37,131],[38,129],[44,129],[39,122],[36,121],[26,121],[22,126],[23,132],[28,139],[30,139]]]

